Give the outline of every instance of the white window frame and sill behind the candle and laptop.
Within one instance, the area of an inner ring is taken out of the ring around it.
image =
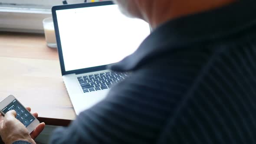
[[[96,1],[103,0],[0,0],[0,31],[43,33],[42,20],[54,5]]]

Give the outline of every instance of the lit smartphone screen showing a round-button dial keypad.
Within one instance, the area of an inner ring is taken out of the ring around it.
[[[35,120],[35,118],[24,108],[16,99],[13,100],[9,105],[2,109],[3,113],[7,111],[15,110],[17,115],[16,118],[27,127]]]

